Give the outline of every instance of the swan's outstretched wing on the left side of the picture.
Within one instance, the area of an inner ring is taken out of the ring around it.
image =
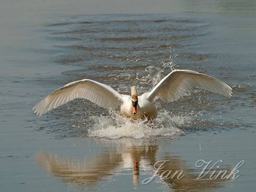
[[[111,87],[94,80],[83,79],[68,83],[64,87],[46,95],[34,105],[33,110],[34,113],[41,116],[51,109],[55,109],[76,98],[87,99],[106,109],[109,107],[114,109],[122,102],[122,95]]]

